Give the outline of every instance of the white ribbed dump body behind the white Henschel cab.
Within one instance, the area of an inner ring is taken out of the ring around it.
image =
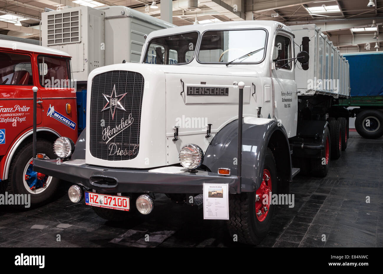
[[[301,51],[303,37],[309,37],[309,68],[300,63],[295,69],[298,95],[326,94],[334,98],[349,97],[349,62],[339,53],[316,25],[289,26],[295,34],[295,53]]]

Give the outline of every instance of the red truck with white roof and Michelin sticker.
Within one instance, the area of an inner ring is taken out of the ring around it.
[[[77,140],[77,108],[70,56],[52,48],[0,39],[0,193],[48,200],[58,179],[33,171],[33,87],[37,98],[37,153],[56,158],[60,136]]]

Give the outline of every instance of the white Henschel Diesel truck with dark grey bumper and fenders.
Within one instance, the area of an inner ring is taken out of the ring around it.
[[[153,193],[205,207],[204,184],[227,185],[231,235],[257,244],[275,209],[264,195],[288,193],[300,168],[326,176],[345,148],[349,114],[332,105],[349,96],[347,73],[314,25],[292,31],[237,21],[153,31],[140,64],[90,73],[86,130],[75,145],[58,138],[61,160],[38,154],[34,170],[73,182],[70,200],[85,196],[109,220],[134,208],[150,213]],[[313,82],[325,77],[343,84]]]

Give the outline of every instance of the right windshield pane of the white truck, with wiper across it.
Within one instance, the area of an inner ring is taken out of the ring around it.
[[[228,63],[256,51],[233,63],[259,63],[264,59],[266,37],[265,30],[206,31],[201,39],[198,61]]]

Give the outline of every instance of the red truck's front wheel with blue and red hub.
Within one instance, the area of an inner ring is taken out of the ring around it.
[[[37,140],[36,151],[46,154],[49,159],[56,158],[51,142]],[[59,179],[33,171],[32,159],[30,142],[18,151],[11,162],[6,190],[11,194],[30,194],[31,206],[36,206],[52,198],[57,191]]]

